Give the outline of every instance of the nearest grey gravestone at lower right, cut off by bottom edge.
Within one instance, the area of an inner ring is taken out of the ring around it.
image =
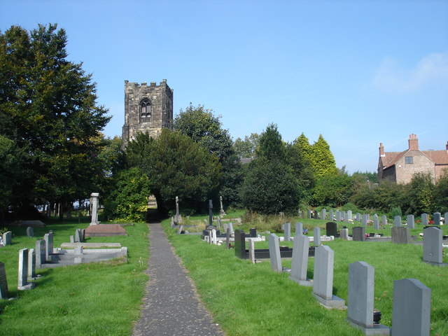
[[[393,336],[429,336],[431,290],[417,279],[393,281]]]

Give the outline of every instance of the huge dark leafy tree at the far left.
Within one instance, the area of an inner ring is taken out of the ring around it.
[[[0,34],[0,134],[26,153],[15,203],[69,202],[88,195],[97,178],[98,132],[109,121],[81,64],[66,59],[57,25]]]

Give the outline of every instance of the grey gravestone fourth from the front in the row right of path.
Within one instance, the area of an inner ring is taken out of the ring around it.
[[[295,235],[289,279],[302,286],[313,286],[313,283],[307,279],[308,253],[309,238],[302,234]]]

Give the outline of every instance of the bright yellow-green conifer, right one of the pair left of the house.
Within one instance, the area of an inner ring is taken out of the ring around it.
[[[311,153],[311,165],[314,168],[316,178],[337,174],[335,157],[332,155],[330,146],[323,139],[322,134],[319,135],[317,141],[311,147]]]

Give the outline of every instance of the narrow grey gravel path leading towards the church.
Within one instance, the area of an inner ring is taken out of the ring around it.
[[[132,336],[224,335],[197,296],[160,223],[150,223],[149,281]]]

